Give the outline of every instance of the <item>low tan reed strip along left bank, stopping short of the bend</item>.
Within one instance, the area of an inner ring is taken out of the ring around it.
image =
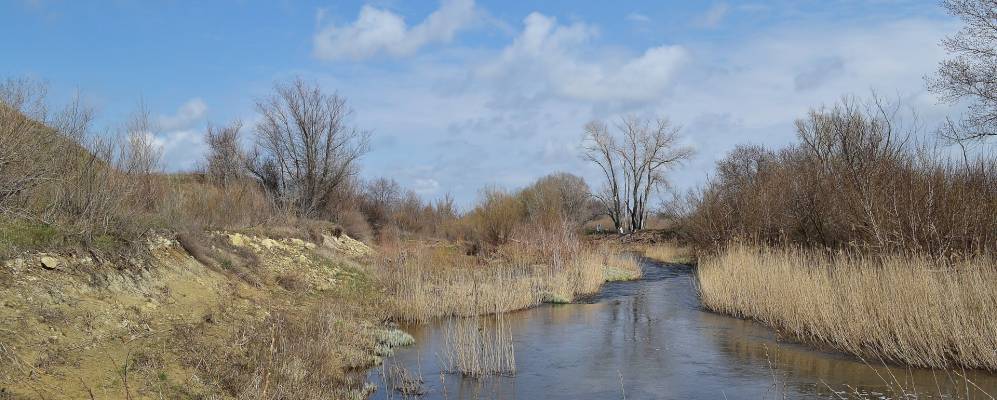
[[[417,246],[385,256],[376,274],[391,298],[393,316],[414,322],[570,302],[595,293],[605,281],[603,258],[595,252],[565,254],[553,262],[526,253],[505,249],[482,262],[451,246]]]

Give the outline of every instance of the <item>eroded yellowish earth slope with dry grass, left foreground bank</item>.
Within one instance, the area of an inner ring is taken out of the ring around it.
[[[343,398],[406,344],[346,235],[152,235],[0,268],[0,398]]]

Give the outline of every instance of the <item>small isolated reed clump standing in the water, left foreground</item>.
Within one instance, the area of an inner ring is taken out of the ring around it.
[[[473,377],[516,373],[512,330],[502,314],[449,318],[444,341],[448,373]]]

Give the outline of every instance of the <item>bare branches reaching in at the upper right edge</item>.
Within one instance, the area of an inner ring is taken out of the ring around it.
[[[942,136],[962,142],[997,136],[997,0],[944,0],[965,26],[945,38],[953,57],[938,66],[928,88],[950,102],[972,104],[961,121],[947,120]]]

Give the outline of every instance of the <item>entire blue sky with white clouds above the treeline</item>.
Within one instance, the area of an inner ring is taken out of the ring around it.
[[[113,132],[139,104],[164,168],[194,168],[208,124],[240,120],[301,77],[372,131],[365,178],[472,202],[555,171],[599,185],[586,122],[667,117],[701,185],[737,144],[778,148],[813,107],[872,91],[931,127],[956,111],[925,90],[959,29],[933,1],[0,0],[0,79],[80,93]],[[249,143],[247,143],[249,144]]]

